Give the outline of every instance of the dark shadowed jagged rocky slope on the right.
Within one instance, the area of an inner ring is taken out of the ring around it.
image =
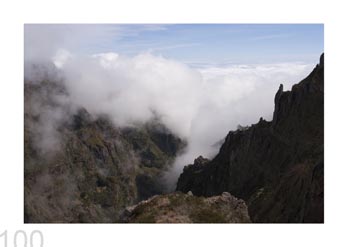
[[[186,166],[177,190],[228,191],[248,203],[253,222],[323,222],[323,60],[291,91],[280,86],[272,121],[229,132],[213,160]]]

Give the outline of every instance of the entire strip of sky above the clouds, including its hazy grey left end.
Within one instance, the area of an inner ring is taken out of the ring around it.
[[[25,25],[26,57],[151,52],[189,64],[316,63],[323,24],[42,24]]]

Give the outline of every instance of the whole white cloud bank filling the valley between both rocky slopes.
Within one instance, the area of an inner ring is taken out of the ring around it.
[[[270,120],[279,84],[289,89],[313,67],[286,63],[196,68],[151,53],[81,55],[65,49],[64,44],[72,41],[60,43],[54,35],[54,41],[46,40],[43,52],[36,53],[31,49],[35,32],[31,30],[25,41],[25,60],[50,58],[63,75],[75,108],[108,115],[121,127],[146,123],[157,113],[172,132],[188,141],[186,152],[168,174],[171,183],[197,156],[212,158],[219,149],[215,143],[238,124],[250,125],[260,117]]]

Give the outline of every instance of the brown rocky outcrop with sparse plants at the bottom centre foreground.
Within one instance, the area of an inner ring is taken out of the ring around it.
[[[191,192],[154,196],[126,208],[124,223],[250,223],[245,202],[228,192],[197,197]]]

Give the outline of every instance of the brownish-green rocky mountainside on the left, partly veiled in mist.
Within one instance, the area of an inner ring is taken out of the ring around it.
[[[182,140],[157,121],[117,128],[73,111],[63,84],[41,78],[24,84],[25,222],[117,222],[126,206],[165,192],[162,173]]]

